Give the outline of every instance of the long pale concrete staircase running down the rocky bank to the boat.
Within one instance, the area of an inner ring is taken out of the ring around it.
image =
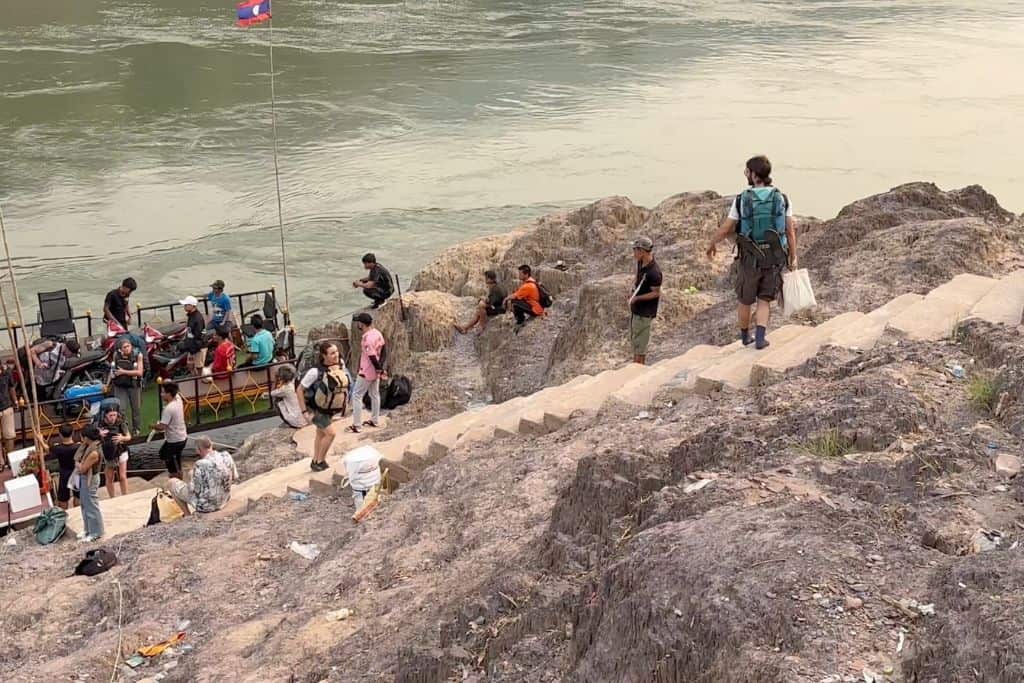
[[[887,329],[910,339],[938,340],[948,337],[957,323],[968,317],[1016,326],[1022,313],[1024,270],[1000,279],[961,274],[925,296],[904,294],[868,313],[843,313],[817,327],[784,325],[770,332],[771,346],[762,351],[738,341],[726,346],[701,344],[652,366],[629,364],[594,376],[581,375],[529,396],[460,413],[373,445],[384,456],[381,467],[388,468],[395,480],[404,482],[456,446],[556,431],[577,411],[596,411],[609,399],[645,407],[667,385],[707,393],[769,384],[826,345],[867,350]],[[311,428],[297,433],[301,453],[311,452]],[[359,442],[372,441],[372,436],[369,430],[362,434],[340,433],[328,458],[332,468],[325,472],[311,473],[308,458],[303,458],[237,485],[230,505],[214,516],[244,510],[251,501],[264,496],[281,498],[292,490],[314,492],[336,485],[344,474],[341,454]],[[152,492],[140,492],[102,502],[108,536],[144,524],[151,498]],[[73,513],[70,520],[78,530],[80,516]]]

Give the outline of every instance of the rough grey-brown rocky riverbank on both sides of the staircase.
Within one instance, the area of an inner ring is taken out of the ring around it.
[[[702,255],[725,206],[614,198],[457,248],[411,295],[420,332],[390,334],[409,335],[408,369],[465,354],[492,391],[503,352],[537,359],[512,392],[621,362],[628,243],[647,232],[672,271],[658,354],[728,341],[729,259]],[[804,224],[812,321],[1024,264],[1021,220],[977,187],[905,185]],[[454,345],[430,311],[472,305],[470,253],[578,280],[521,335]],[[401,325],[390,311],[382,327]],[[1022,351],[1020,329],[977,321],[950,341],[890,334],[766,388],[457,447],[358,526],[332,490],[151,527],[113,540],[122,563],[96,579],[69,578],[75,544],[22,532],[0,542],[0,680],[1019,681]],[[416,420],[455,410],[418,401]],[[187,647],[114,666],[119,644],[179,630]]]

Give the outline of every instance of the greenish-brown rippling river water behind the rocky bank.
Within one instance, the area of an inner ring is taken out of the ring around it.
[[[360,303],[445,246],[621,194],[735,191],[763,152],[798,213],[918,179],[1024,210],[1024,2],[276,0],[292,307]],[[24,302],[281,287],[266,25],[230,2],[8,2],[0,201]],[[31,313],[30,313],[31,315]]]

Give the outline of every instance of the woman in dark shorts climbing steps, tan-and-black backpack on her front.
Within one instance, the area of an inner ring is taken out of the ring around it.
[[[323,472],[328,468],[327,454],[335,437],[331,421],[336,415],[344,415],[348,401],[348,375],[341,367],[341,356],[334,342],[319,343],[316,365],[302,377],[300,384],[302,391],[297,393],[300,408],[316,427],[309,468]]]

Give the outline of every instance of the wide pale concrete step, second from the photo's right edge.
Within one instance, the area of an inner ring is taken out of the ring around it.
[[[889,321],[889,329],[909,339],[938,341],[949,337],[956,324],[998,284],[992,278],[961,274],[936,287],[924,299]]]

